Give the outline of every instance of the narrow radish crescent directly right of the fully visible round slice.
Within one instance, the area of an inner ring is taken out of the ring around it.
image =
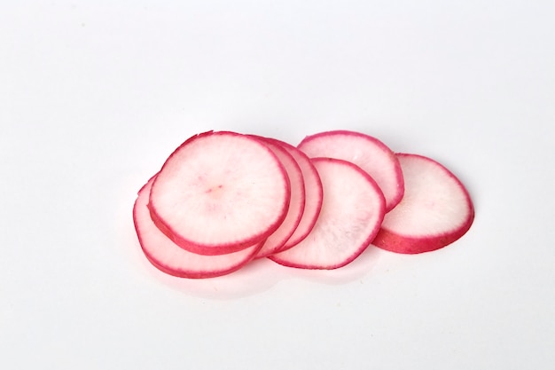
[[[285,241],[291,237],[297,225],[301,221],[302,212],[304,210],[304,180],[302,178],[301,168],[297,161],[293,159],[293,155],[289,154],[283,146],[277,143],[277,140],[272,138],[256,137],[262,143],[270,148],[276,154],[277,159],[281,161],[291,185],[291,201],[289,202],[289,209],[287,216],[282,224],[279,225],[277,230],[273,232],[262,246],[262,249],[256,255],[257,258],[270,256],[279,248],[282,248]]]

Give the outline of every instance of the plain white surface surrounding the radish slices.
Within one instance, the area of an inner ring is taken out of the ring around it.
[[[0,8],[1,368],[552,368],[553,2]],[[336,129],[442,161],[470,232],[335,272],[146,262],[133,201],[184,139]]]

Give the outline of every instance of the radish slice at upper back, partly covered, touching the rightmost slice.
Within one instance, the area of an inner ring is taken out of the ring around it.
[[[403,172],[395,154],[377,138],[360,132],[335,130],[304,138],[297,146],[310,158],[329,157],[355,163],[378,183],[386,211],[403,198]]]

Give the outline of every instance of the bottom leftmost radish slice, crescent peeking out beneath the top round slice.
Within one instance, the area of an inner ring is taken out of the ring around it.
[[[133,220],[146,258],[160,271],[181,278],[201,279],[237,271],[251,261],[262,243],[221,256],[201,256],[186,251],[169,240],[152,222],[148,198],[153,178],[143,186],[133,207]]]

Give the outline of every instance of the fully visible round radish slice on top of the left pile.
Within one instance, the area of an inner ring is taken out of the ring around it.
[[[234,132],[189,138],[152,183],[154,223],[177,245],[220,255],[265,240],[283,222],[291,188],[268,146]]]

